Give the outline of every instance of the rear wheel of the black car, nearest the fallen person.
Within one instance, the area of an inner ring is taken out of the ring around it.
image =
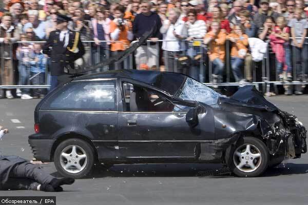
[[[67,139],[55,149],[54,165],[64,177],[75,179],[85,177],[92,171],[94,150],[82,139]]]

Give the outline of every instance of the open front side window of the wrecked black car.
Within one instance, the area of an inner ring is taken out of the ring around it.
[[[177,112],[178,108],[161,93],[138,85],[123,83],[126,111]]]

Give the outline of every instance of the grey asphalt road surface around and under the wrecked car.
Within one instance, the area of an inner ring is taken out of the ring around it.
[[[269,100],[308,126],[308,96]],[[0,99],[0,124],[10,133],[0,141],[4,155],[31,160],[28,135],[39,100]],[[56,174],[53,163],[41,165]],[[92,177],[64,186],[64,192],[0,191],[0,196],[56,196],[57,204],[308,204],[308,154],[290,159],[257,178],[207,176],[220,165],[117,165],[98,167]]]

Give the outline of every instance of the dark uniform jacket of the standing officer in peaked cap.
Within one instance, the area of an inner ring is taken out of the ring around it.
[[[63,47],[65,40],[60,41],[60,30],[52,31],[45,45],[43,46],[43,53],[50,57],[50,74],[51,75],[63,75],[64,68],[70,67],[74,68],[74,61],[81,58],[85,54],[84,46],[80,40],[80,36],[75,38],[75,31],[69,30],[69,41],[67,47]],[[78,40],[78,44],[75,45],[74,42]],[[71,51],[70,51],[70,50]],[[73,49],[73,50],[72,50]]]

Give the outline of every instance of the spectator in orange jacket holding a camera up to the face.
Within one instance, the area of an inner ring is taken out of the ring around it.
[[[111,43],[111,55],[117,55],[120,52],[126,50],[129,47],[130,41],[133,38],[132,24],[128,20],[123,19],[125,8],[121,5],[114,8],[114,20],[110,23],[110,37],[111,40],[117,40],[118,42]],[[129,65],[129,58],[124,61],[125,66]],[[110,66],[111,70],[125,69],[123,62],[114,63]]]

